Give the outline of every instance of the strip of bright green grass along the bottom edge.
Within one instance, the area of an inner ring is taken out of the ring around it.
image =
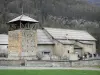
[[[100,75],[90,70],[0,70],[0,75]]]

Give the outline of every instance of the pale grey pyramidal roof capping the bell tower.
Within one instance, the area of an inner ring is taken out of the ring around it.
[[[9,21],[8,23],[15,23],[15,22],[19,22],[19,21],[29,22],[29,23],[38,23],[39,22],[33,18],[30,18],[29,16],[22,14],[16,18],[14,18],[13,20]]]

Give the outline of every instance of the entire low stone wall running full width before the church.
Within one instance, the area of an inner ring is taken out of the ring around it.
[[[30,67],[90,67],[100,65],[100,60],[82,61],[23,61],[23,60],[0,60],[0,66],[30,66]]]

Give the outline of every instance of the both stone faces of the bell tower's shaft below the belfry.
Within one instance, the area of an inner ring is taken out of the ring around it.
[[[30,57],[36,55],[37,32],[35,30],[14,30],[9,31],[8,58],[23,56]]]

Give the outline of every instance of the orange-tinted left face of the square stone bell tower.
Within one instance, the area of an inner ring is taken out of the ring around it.
[[[20,30],[8,32],[8,53],[9,57],[19,56],[21,51],[21,32]]]

